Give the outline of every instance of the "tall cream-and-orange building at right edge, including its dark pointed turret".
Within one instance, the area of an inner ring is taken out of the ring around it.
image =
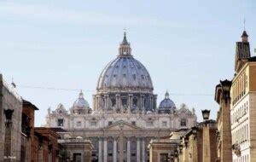
[[[256,161],[256,58],[251,57],[247,32],[236,43],[235,77],[231,85],[233,161]]]

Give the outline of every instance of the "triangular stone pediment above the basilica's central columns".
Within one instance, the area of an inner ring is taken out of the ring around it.
[[[132,125],[128,122],[125,122],[123,120],[120,120],[116,123],[113,123],[105,128],[103,130],[141,130],[140,127],[137,127],[135,125]]]

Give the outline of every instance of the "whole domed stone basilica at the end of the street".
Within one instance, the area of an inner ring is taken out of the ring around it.
[[[119,55],[100,74],[92,107],[81,91],[71,108],[59,104],[55,110],[48,109],[46,117],[46,126],[61,127],[69,137],[89,139],[92,158],[100,162],[148,161],[150,140],[195,124],[194,108],[176,107],[167,91],[157,105],[148,70],[131,55],[126,34]]]

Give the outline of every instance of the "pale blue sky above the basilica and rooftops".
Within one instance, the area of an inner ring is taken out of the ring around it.
[[[248,1],[1,1],[0,72],[11,83],[72,90],[17,87],[40,109],[36,125],[45,123],[47,108],[68,109],[84,90],[92,106],[96,82],[118,54],[123,29],[132,54],[153,79],[158,102],[169,90],[179,106],[211,109],[219,79],[234,74],[235,43],[243,20],[256,46],[256,3]],[[86,91],[89,90],[89,91]],[[212,95],[211,95],[212,94]]]

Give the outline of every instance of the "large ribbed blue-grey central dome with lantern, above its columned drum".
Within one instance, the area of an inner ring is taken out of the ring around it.
[[[133,91],[152,92],[152,80],[146,67],[131,55],[130,43],[124,36],[120,43],[119,55],[103,69],[96,90],[98,91]]]

